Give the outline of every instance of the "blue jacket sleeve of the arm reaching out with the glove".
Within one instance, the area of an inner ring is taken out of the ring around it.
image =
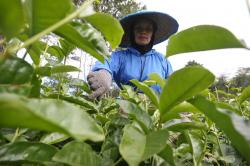
[[[117,74],[120,66],[120,55],[119,52],[113,52],[110,56],[110,59],[105,59],[105,62],[96,61],[95,65],[92,68],[92,71],[98,71],[101,69],[107,70],[113,77]]]

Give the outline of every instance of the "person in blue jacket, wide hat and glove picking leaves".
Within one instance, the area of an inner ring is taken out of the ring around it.
[[[141,11],[129,14],[120,20],[124,35],[121,50],[111,54],[105,63],[97,61],[87,76],[93,90],[91,97],[97,98],[106,93],[112,80],[121,88],[132,85],[130,80],[144,81],[150,73],[158,73],[167,78],[172,72],[170,62],[153,45],[168,39],[178,30],[178,22],[168,14],[155,11]],[[161,92],[159,85],[152,89]]]

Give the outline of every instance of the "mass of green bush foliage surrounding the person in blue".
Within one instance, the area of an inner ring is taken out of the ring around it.
[[[0,165],[249,165],[249,86],[212,91],[214,75],[189,66],[167,80],[155,73],[132,80],[137,90],[125,85],[119,98],[91,100],[86,82],[67,76],[79,71],[67,57],[78,47],[104,60],[107,44],[119,45],[119,21],[89,13],[91,1],[78,8],[71,0],[0,3],[20,19],[0,10]],[[45,40],[50,35],[57,45]],[[207,42],[191,50],[183,42],[200,35]],[[177,33],[167,54],[238,46],[228,30],[203,25]]]

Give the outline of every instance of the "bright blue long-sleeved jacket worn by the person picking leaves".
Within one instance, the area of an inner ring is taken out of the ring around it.
[[[113,52],[110,60],[106,60],[104,64],[97,61],[92,71],[100,69],[109,71],[119,87],[121,84],[132,85],[129,82],[132,79],[141,82],[147,80],[148,75],[153,72],[158,73],[162,78],[167,78],[173,71],[169,61],[161,53],[152,49],[141,55],[132,47]],[[161,92],[158,85],[154,85],[152,88],[159,93]]]

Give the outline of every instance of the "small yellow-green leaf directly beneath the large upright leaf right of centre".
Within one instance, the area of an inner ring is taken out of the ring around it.
[[[166,122],[171,119],[180,119],[180,113],[182,112],[192,112],[197,113],[200,112],[197,108],[195,108],[192,104],[188,102],[182,102],[177,106],[173,107],[170,111],[166,112],[164,116],[162,116],[162,122]]]

